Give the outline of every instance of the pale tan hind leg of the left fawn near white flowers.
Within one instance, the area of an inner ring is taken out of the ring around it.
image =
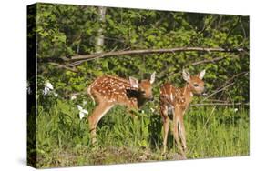
[[[105,114],[110,110],[114,105],[109,103],[99,103],[92,114],[88,117],[89,129],[92,138],[92,144],[95,144],[97,141],[96,138],[96,128],[98,121],[105,116]]]

